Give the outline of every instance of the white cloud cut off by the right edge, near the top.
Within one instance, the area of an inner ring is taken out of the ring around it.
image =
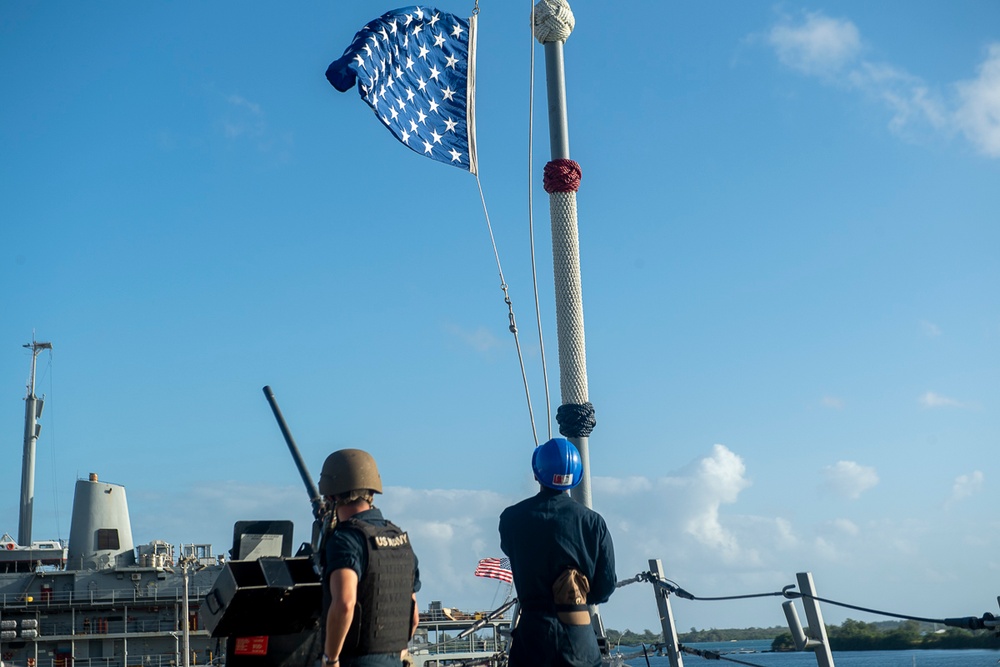
[[[960,81],[955,122],[977,150],[1000,157],[1000,43],[991,44],[979,76]]]

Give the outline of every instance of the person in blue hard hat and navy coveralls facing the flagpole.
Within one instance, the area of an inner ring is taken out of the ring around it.
[[[500,548],[510,558],[521,617],[508,664],[598,667],[588,605],[615,590],[615,554],[603,517],[569,497],[583,463],[576,446],[553,438],[535,448],[539,492],[500,515]]]

